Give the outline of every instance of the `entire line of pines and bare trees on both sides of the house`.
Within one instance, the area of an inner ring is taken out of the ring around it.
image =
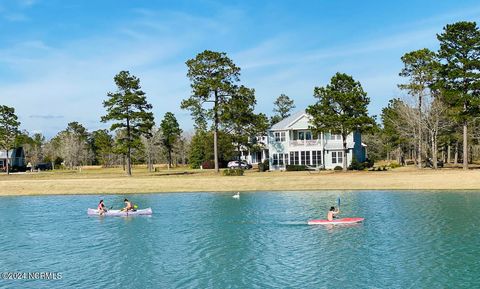
[[[369,157],[412,159],[422,167],[437,159],[462,160],[468,168],[478,155],[480,109],[480,31],[475,22],[446,25],[437,35],[439,49],[420,49],[401,57],[404,67],[398,85],[406,95],[390,100],[382,110],[381,123],[368,114],[370,99],[360,82],[337,73],[325,87],[315,87],[314,104],[308,106],[314,134],[339,134],[345,154],[346,137],[365,134]],[[32,163],[48,160],[68,168],[84,164],[122,164],[131,175],[132,163],[190,164],[212,167],[238,158],[241,150],[262,149],[256,136],[290,116],[295,104],[281,94],[274,115],[256,113],[255,90],[241,83],[241,69],[223,52],[205,50],[186,62],[191,95],[181,102],[190,111],[194,132],[183,132],[171,112],[158,126],[152,105],[141,90],[140,79],[128,71],[114,77],[115,92],[103,102],[101,121],[109,130],[88,132],[71,122],[49,141],[41,134],[20,132],[14,109],[0,107],[0,148],[23,145]],[[463,148],[463,149],[461,149]],[[346,169],[347,158],[344,159]],[[211,163],[210,163],[211,162]]]

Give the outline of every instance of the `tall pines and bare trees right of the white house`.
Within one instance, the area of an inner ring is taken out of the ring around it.
[[[401,57],[403,97],[382,110],[382,126],[368,138],[377,158],[411,159],[418,167],[462,163],[479,156],[480,30],[475,22],[448,24],[439,49]]]

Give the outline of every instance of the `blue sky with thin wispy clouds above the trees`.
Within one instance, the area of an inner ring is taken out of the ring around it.
[[[398,2],[398,3],[397,3]],[[184,130],[190,95],[185,61],[223,51],[272,113],[281,93],[298,109],[313,88],[344,72],[360,81],[379,115],[402,94],[400,57],[437,49],[447,23],[480,19],[478,1],[127,1],[0,0],[0,104],[22,129],[48,137],[79,121],[106,128],[102,101],[113,77],[141,79],[159,122],[173,112]]]

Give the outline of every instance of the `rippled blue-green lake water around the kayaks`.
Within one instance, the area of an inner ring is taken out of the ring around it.
[[[480,194],[130,195],[151,217],[88,217],[102,196],[0,198],[1,288],[480,288]],[[363,224],[308,226],[341,196]],[[123,196],[104,196],[122,205]]]

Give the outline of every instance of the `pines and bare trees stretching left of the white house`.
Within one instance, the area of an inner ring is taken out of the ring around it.
[[[155,163],[198,168],[212,161],[218,171],[219,162],[239,157],[242,149],[260,149],[254,137],[294,107],[293,100],[282,94],[270,119],[255,113],[255,90],[238,84],[240,68],[225,53],[207,50],[186,64],[192,95],[181,106],[192,113],[194,134],[184,132],[172,112],[155,125],[140,79],[121,71],[114,77],[116,91],[108,92],[103,102],[106,113],[100,120],[110,124],[108,130],[89,132],[81,123],[70,122],[47,141],[40,133],[20,131],[15,109],[1,106],[0,149],[23,147],[32,167],[42,162],[68,169],[122,165],[131,175],[134,163],[147,164],[152,171]]]

